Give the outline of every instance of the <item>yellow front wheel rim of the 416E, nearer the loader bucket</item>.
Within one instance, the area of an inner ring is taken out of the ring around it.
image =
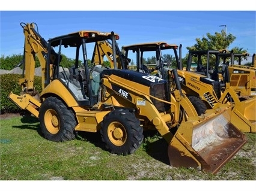
[[[112,122],[108,126],[108,137],[114,145],[121,146],[127,140],[126,129],[121,123]]]

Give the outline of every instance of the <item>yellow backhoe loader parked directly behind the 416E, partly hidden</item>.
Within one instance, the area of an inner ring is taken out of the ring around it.
[[[178,46],[165,42],[132,44],[130,46],[123,46],[123,50],[125,51],[126,58],[135,53],[137,71],[144,72],[147,72],[147,69],[143,68],[145,67],[145,63],[143,63],[145,62],[144,55],[151,53],[152,56],[153,53],[156,57],[156,69],[160,71],[158,75],[165,80],[169,78],[169,68],[164,66],[162,51],[166,53],[166,50],[168,50],[167,53],[174,54],[175,62],[178,66],[177,68],[179,68],[177,73],[181,89],[194,105],[198,115],[203,114],[207,109],[219,108],[223,104],[229,105],[229,107],[233,108],[231,122],[237,124],[237,128],[239,128],[240,131],[256,132],[256,98],[240,101],[235,90],[230,86],[230,83],[225,84],[225,91],[222,92],[221,83],[219,81],[212,80],[207,77],[206,74],[203,75],[203,73],[198,74],[197,72],[184,71],[181,66],[181,45],[179,56],[177,53]],[[213,53],[219,54],[222,53],[222,51],[214,51]],[[207,66],[207,70],[209,70],[208,67],[209,66]],[[233,102],[230,101],[230,97],[233,98]]]

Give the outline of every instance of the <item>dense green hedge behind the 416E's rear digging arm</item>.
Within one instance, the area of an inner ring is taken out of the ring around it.
[[[16,104],[8,99],[9,93],[13,92],[20,95],[21,87],[19,79],[23,78],[21,74],[3,74],[0,75],[0,99],[1,114],[3,113],[19,113],[22,111]],[[41,92],[41,77],[35,76],[35,89]]]

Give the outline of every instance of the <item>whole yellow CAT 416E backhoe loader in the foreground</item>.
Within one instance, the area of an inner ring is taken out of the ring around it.
[[[125,156],[140,147],[144,131],[155,129],[168,144],[170,165],[199,168],[213,174],[246,144],[245,135],[230,121],[231,107],[227,105],[198,116],[187,102],[195,114],[180,120],[181,102],[186,95],[181,91],[175,69],[169,71],[169,76],[174,77],[170,81],[118,69],[118,34],[84,30],[46,41],[35,23],[20,25],[25,35],[25,72],[19,81],[20,95],[10,92],[9,98],[38,118],[41,134],[47,140],[70,141],[75,139],[75,131],[100,132],[111,153]],[[116,47],[112,48],[111,56],[114,68],[94,65],[98,43],[105,40]],[[90,45],[95,48],[90,49]],[[70,70],[61,65],[65,48],[75,50],[75,67]],[[92,63],[88,62],[90,53]],[[40,93],[34,87],[35,56],[42,71]],[[122,60],[120,65],[124,68]],[[175,87],[172,93],[171,82]]]

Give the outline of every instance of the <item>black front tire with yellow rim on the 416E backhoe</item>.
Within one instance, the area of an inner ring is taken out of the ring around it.
[[[123,156],[134,153],[144,138],[139,119],[125,109],[108,113],[103,119],[100,134],[111,153]]]

